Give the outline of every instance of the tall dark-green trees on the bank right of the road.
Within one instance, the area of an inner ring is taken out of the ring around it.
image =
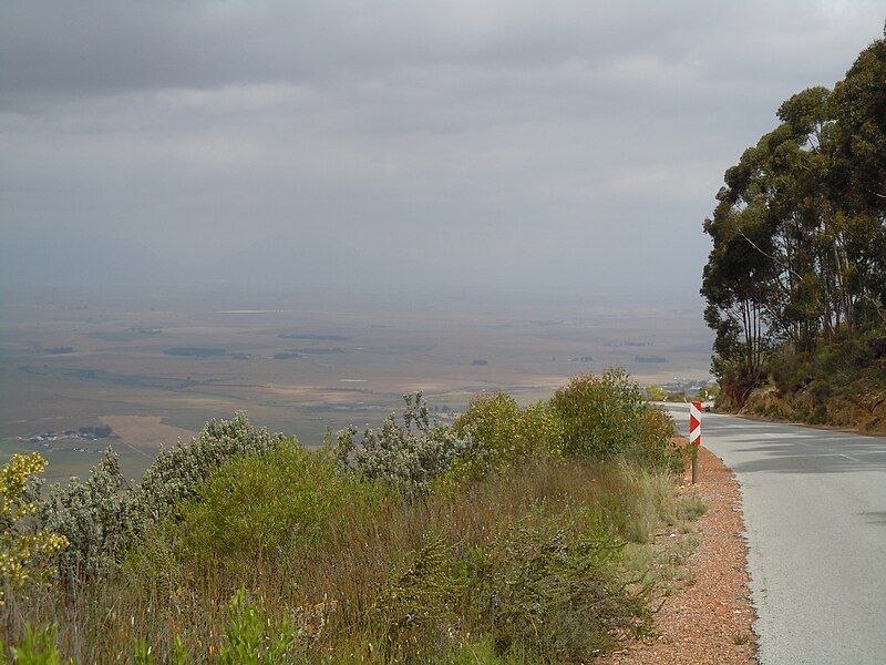
[[[886,431],[886,39],[777,115],[704,222],[718,402]]]

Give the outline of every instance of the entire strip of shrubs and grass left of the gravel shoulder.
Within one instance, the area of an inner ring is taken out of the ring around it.
[[[643,543],[702,510],[674,498],[673,433],[610,371],[477,397],[452,428],[406,396],[322,450],[237,415],[134,485],[109,452],[39,498],[42,462],[16,458],[0,661],[585,662],[649,631]]]

